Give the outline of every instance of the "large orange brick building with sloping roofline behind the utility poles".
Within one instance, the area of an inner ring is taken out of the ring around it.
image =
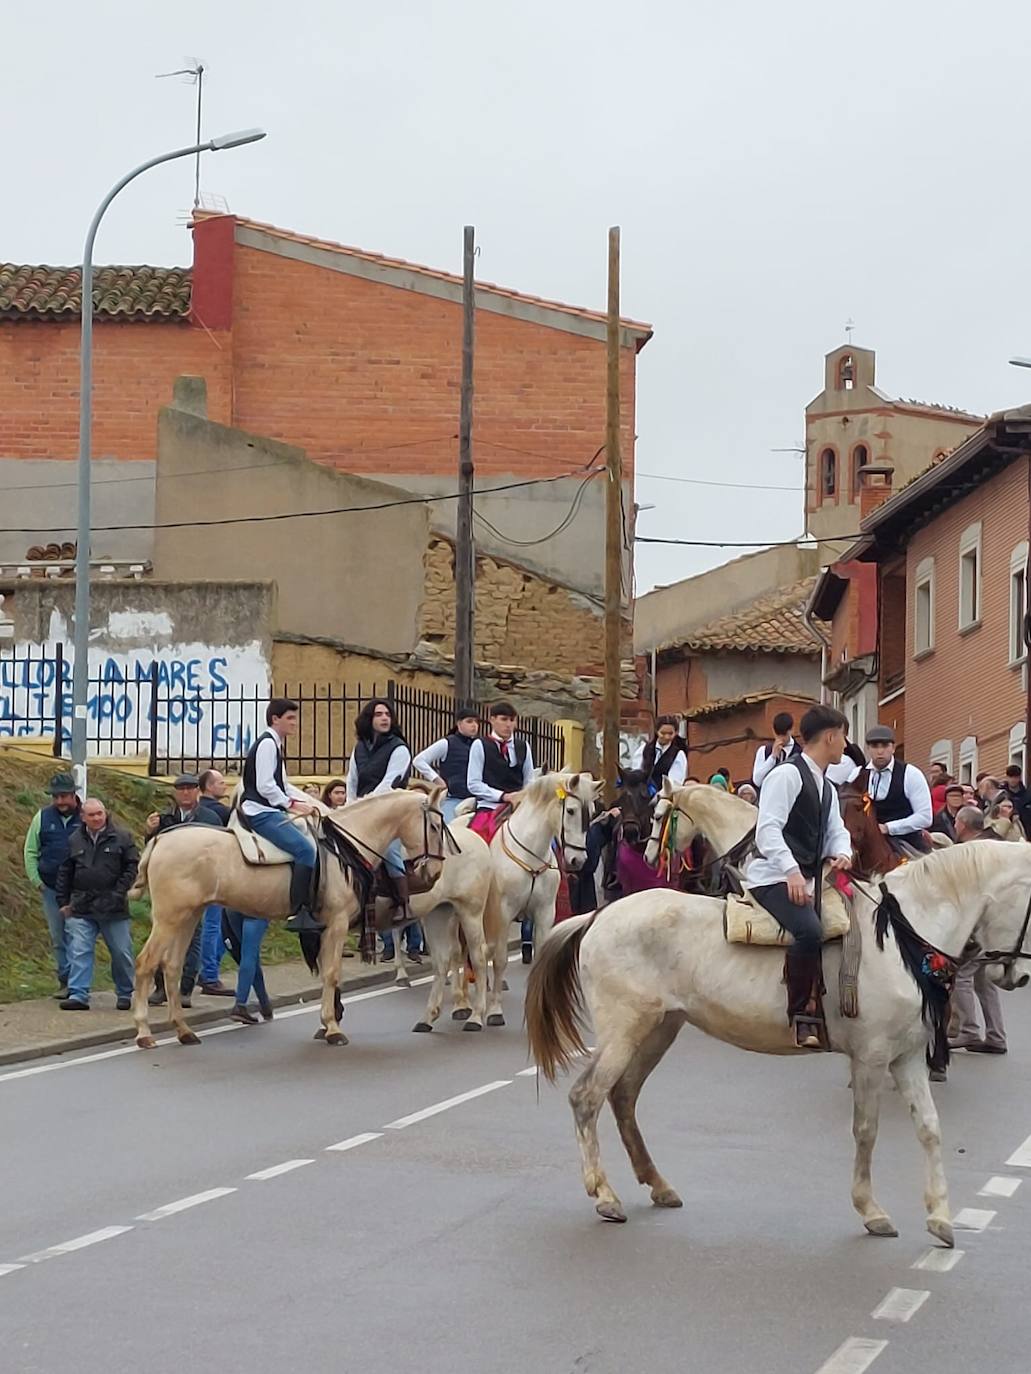
[[[186,374],[205,378],[212,420],[421,493],[454,489],[461,278],[235,216],[199,214],[192,235],[191,268],[98,272],[98,459],[153,459],[158,409]],[[0,265],[0,464],[8,473],[10,460],[76,455],[78,316],[77,271]],[[650,334],[623,322],[631,500],[636,354]],[[478,283],[477,484],[568,474],[554,488],[488,499],[483,513],[513,540],[553,528],[603,440],[603,313]],[[561,550],[529,556],[565,559],[564,580],[595,592],[601,495],[592,484]]]

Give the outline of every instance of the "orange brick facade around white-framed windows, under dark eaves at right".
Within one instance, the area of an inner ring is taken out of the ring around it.
[[[954,771],[960,745],[977,739],[976,769],[997,772],[1009,761],[1009,731],[1023,723],[1027,694],[1020,668],[1009,664],[1009,565],[1028,536],[1027,459],[1019,458],[951,506],[909,543],[906,636],[906,757],[927,767],[932,745],[953,742]],[[982,622],[961,633],[960,540],[982,521]],[[914,576],[935,559],[935,647],[913,655]]]

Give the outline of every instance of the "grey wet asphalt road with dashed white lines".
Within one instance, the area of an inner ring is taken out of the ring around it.
[[[845,1061],[685,1030],[641,1110],[685,1208],[647,1204],[609,1117],[630,1212],[609,1226],[565,1087],[520,1072],[521,1015],[415,1036],[423,998],[360,995],[340,1050],[302,1009],[0,1073],[3,1374],[1031,1370],[1031,992],[1004,999],[1010,1054],[958,1054],[936,1090],[953,1210],[984,1224],[947,1272],[913,1267],[931,1241],[894,1092],[874,1179],[902,1237],[851,1209]],[[1012,1195],[979,1195],[999,1178]]]

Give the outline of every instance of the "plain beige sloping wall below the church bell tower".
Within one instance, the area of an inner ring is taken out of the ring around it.
[[[669,587],[656,587],[634,607],[634,649],[646,654],[676,643],[686,631],[726,616],[773,587],[786,587],[819,572],[812,548],[762,548]]]

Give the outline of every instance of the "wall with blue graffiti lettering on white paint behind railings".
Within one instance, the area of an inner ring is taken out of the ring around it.
[[[11,635],[0,657],[0,735],[52,735],[56,647],[63,649],[62,734],[70,742],[74,583],[0,584]],[[148,675],[158,666],[159,746],[210,757],[247,747],[235,692],[264,697],[271,673],[274,589],[267,583],[96,583],[88,694],[91,753],[146,753]],[[92,743],[98,747],[93,749]]]

